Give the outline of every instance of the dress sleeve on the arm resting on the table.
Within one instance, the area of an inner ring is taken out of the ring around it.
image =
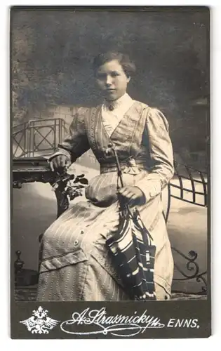
[[[50,157],[50,160],[60,154],[65,154],[73,163],[84,152],[90,149],[85,128],[85,114],[87,109],[79,109],[73,116],[72,123],[69,126],[69,133],[65,135],[62,143],[58,144],[58,149]]]

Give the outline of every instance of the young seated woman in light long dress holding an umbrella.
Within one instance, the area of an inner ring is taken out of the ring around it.
[[[163,114],[126,93],[135,66],[126,55],[108,52],[94,60],[101,105],[81,108],[69,135],[51,157],[55,171],[90,148],[100,176],[86,188],[87,201],[74,204],[43,234],[38,300],[130,300],[114,269],[106,241],[119,225],[117,171],[109,143],[123,171],[121,197],[136,206],[156,245],[157,300],[170,298],[173,257],[161,206],[161,192],[173,176],[173,150]]]

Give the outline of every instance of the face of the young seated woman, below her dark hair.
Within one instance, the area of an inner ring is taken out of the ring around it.
[[[114,101],[126,93],[130,77],[126,76],[118,60],[112,60],[98,68],[96,81],[105,99]]]

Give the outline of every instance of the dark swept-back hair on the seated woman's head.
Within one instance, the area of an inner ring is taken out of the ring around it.
[[[93,60],[93,69],[96,72],[100,66],[112,60],[117,60],[120,63],[127,77],[130,77],[135,73],[135,64],[130,61],[129,56],[116,51],[107,51],[107,53],[100,53],[96,56]]]

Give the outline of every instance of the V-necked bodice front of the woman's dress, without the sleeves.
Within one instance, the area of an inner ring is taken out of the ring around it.
[[[107,153],[110,143],[114,145],[119,160],[122,162],[131,157],[139,159],[139,155],[142,159],[147,160],[147,145],[142,145],[147,110],[147,105],[142,102],[133,102],[112,135],[109,136],[102,122],[101,107],[91,109],[90,116],[86,119],[86,133],[88,143],[100,163],[101,171],[115,164],[114,155]]]

